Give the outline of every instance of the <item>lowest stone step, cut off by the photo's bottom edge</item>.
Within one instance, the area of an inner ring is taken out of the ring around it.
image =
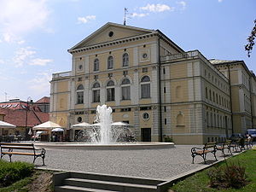
[[[119,192],[113,190],[104,190],[104,189],[91,189],[91,188],[82,188],[76,186],[62,185],[56,186],[55,192]]]

